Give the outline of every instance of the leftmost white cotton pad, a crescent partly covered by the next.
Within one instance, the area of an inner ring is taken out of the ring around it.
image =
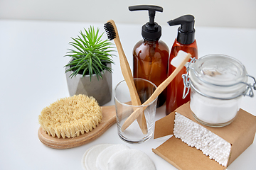
[[[96,167],[96,160],[99,156],[100,152],[102,152],[107,147],[112,146],[112,144],[100,144],[95,145],[87,149],[85,154],[82,156],[82,168],[85,170],[95,170]]]

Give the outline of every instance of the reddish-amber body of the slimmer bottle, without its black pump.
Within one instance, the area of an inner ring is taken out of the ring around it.
[[[178,54],[179,50],[183,50],[184,52],[190,53],[192,57],[196,57],[198,59],[198,50],[197,50],[197,45],[196,45],[196,40],[192,44],[186,44],[183,45],[175,39],[174,45],[171,48],[171,53],[170,53],[170,59],[169,61],[176,57]],[[169,63],[169,72],[168,76],[174,72],[174,67]],[[173,112],[176,108],[179,106],[183,105],[184,103],[187,103],[190,100],[190,95],[188,94],[186,98],[182,98],[183,96],[183,89],[184,89],[184,84],[183,84],[183,79],[182,79],[182,74],[186,74],[186,67],[183,67],[180,72],[178,72],[177,76],[174,78],[173,81],[167,86],[167,97],[166,97],[166,115],[169,113]]]

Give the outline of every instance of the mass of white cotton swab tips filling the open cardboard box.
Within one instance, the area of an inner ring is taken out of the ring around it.
[[[203,154],[220,165],[227,166],[230,143],[179,113],[175,113],[174,136],[188,146],[200,149]]]

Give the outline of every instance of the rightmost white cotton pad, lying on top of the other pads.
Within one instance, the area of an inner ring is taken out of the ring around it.
[[[142,151],[124,149],[113,154],[107,162],[107,170],[156,170],[154,162]]]

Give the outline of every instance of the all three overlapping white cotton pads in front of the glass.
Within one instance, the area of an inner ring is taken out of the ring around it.
[[[151,159],[126,145],[101,144],[87,149],[82,157],[85,170],[156,170]]]

